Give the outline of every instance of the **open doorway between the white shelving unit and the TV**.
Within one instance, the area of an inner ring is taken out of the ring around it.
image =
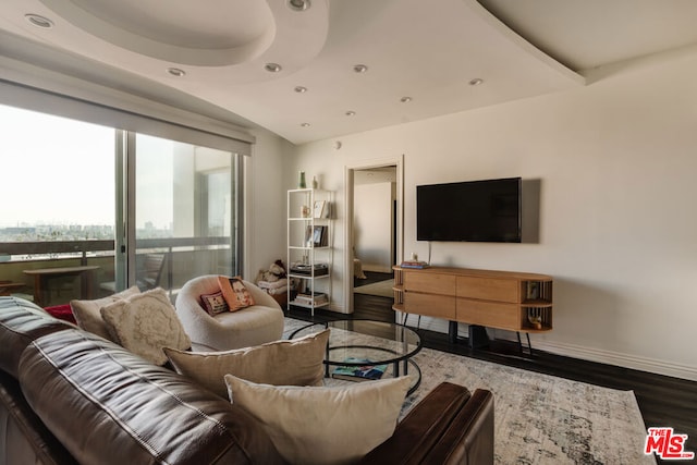
[[[347,313],[356,302],[384,308],[393,298],[392,266],[402,255],[402,163],[400,157],[346,168]]]

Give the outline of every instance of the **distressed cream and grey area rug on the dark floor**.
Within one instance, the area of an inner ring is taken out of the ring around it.
[[[286,333],[307,322],[286,318]],[[421,384],[400,418],[441,381],[494,395],[497,464],[656,464],[632,391],[617,391],[424,348]],[[329,384],[340,381],[331,380]],[[343,381],[347,382],[347,381]]]

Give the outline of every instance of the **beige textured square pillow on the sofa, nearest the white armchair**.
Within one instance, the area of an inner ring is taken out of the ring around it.
[[[114,342],[156,365],[167,362],[162,347],[192,345],[161,287],[109,304],[101,308],[101,317]]]

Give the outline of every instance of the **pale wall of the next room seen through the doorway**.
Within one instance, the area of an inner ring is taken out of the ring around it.
[[[365,271],[392,272],[392,185],[354,186],[354,246]]]

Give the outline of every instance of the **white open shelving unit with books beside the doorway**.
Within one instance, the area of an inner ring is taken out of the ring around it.
[[[333,193],[314,188],[288,192],[289,307],[328,307],[333,258]],[[290,290],[296,283],[294,298]]]

